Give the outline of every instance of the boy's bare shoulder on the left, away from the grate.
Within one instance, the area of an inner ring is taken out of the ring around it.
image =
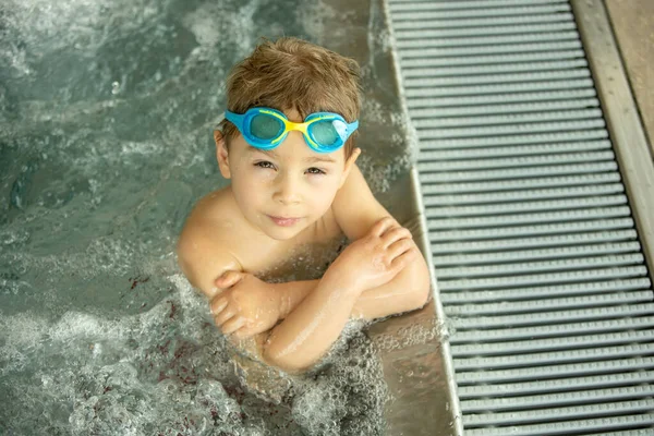
[[[193,207],[178,241],[182,271],[207,295],[222,272],[243,270],[237,253],[243,241],[234,207],[229,186],[207,194]]]

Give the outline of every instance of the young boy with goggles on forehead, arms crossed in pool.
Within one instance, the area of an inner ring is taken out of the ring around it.
[[[289,37],[256,47],[230,73],[214,132],[231,184],[197,203],[179,240],[180,266],[209,298],[216,325],[254,338],[259,358],[287,372],[316,363],[351,316],[374,319],[428,299],[411,233],[354,165],[359,86],[356,62],[325,48]],[[256,277],[343,234],[353,242],[319,280]]]

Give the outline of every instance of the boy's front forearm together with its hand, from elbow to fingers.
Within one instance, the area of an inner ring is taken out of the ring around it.
[[[350,244],[316,289],[272,329],[264,343],[264,359],[287,371],[313,365],[339,337],[359,295],[387,283],[417,256],[409,237],[407,229],[386,217]]]

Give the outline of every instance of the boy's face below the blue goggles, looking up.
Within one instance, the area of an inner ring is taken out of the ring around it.
[[[295,110],[290,121],[302,122]],[[239,134],[229,152],[220,132],[214,132],[218,165],[253,230],[275,240],[289,240],[316,222],[331,206],[361,153],[346,161],[344,149],[320,154],[311,149],[301,132],[291,131],[275,149],[252,147]]]

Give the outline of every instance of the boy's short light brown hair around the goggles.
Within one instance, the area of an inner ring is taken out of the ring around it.
[[[302,120],[310,113],[340,113],[346,121],[361,111],[360,69],[354,59],[294,37],[263,38],[227,77],[227,109],[244,113],[252,107],[295,109]],[[220,122],[226,144],[240,132]],[[358,132],[346,142],[346,159],[354,149]]]

